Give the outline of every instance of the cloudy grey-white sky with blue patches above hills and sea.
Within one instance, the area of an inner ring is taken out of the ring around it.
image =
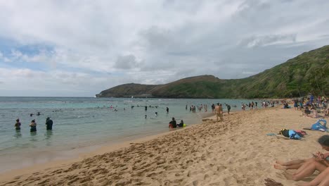
[[[248,77],[329,44],[328,0],[0,0],[0,96]]]

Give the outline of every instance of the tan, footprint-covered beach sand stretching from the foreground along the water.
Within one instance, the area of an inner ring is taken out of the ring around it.
[[[274,162],[323,151],[316,140],[328,133],[307,130],[304,140],[266,134],[310,127],[317,120],[300,115],[276,108],[237,112],[224,116],[222,123],[207,120],[151,140],[102,149],[101,155],[4,173],[0,185],[254,186],[264,185],[265,178],[294,185],[273,168]]]

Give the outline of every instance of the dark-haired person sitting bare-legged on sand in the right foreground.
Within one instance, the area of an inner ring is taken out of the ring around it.
[[[318,143],[321,145],[322,149],[329,151],[329,135],[323,135],[318,138]],[[276,161],[274,168],[283,171],[287,169],[297,169],[297,171],[292,175],[285,173],[285,177],[288,180],[298,181],[313,174],[316,170],[323,172],[328,166],[329,153],[322,154],[321,152],[317,152],[311,159],[294,160],[288,162]]]

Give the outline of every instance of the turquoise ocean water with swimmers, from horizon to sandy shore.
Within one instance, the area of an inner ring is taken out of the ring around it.
[[[240,110],[241,103],[251,101],[257,100],[0,97],[0,172],[65,159],[79,149],[167,132],[172,117],[177,123],[201,123],[202,117],[212,113],[212,104],[230,104],[235,111]],[[207,112],[189,110],[189,106],[201,104],[207,104]],[[53,120],[52,131],[46,130],[47,117]],[[22,123],[20,132],[14,128],[17,118]],[[36,120],[37,132],[30,132],[32,119]]]

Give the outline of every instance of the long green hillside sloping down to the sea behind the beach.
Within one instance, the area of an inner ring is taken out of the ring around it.
[[[96,97],[278,98],[313,92],[329,94],[329,46],[243,79],[220,80],[213,75],[186,77],[165,85],[125,84]]]

